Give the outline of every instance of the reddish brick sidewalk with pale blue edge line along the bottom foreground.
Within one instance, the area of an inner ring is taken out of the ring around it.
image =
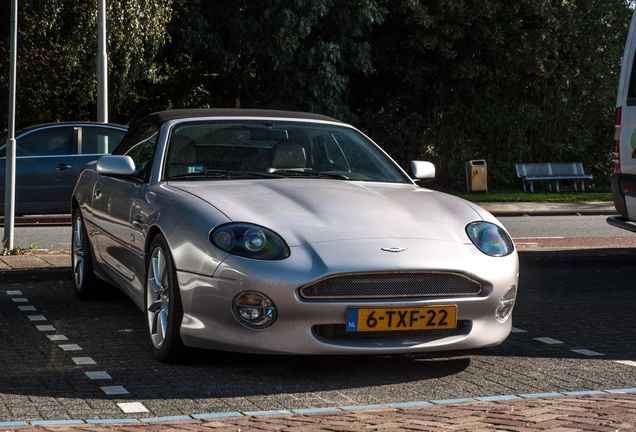
[[[636,430],[636,389],[316,410],[165,418],[0,423],[3,431],[511,431]],[[586,394],[574,394],[586,393]],[[467,402],[466,402],[467,401]]]

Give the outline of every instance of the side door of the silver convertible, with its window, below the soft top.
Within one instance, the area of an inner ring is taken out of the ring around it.
[[[118,284],[130,290],[133,296],[143,290],[143,281],[138,276],[143,271],[138,268],[136,256],[142,252],[140,220],[138,212],[133,212],[138,206],[133,204],[144,201],[157,137],[158,130],[154,126],[140,127],[133,132],[117,154],[133,159],[137,168],[135,174],[124,178],[102,176],[93,191],[93,223],[99,232],[95,237],[98,259],[111,269]]]

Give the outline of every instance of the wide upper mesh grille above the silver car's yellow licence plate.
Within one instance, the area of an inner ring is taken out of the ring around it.
[[[477,295],[481,284],[448,272],[357,273],[331,276],[300,289],[306,299]]]

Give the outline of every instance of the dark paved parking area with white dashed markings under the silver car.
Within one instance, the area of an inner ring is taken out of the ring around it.
[[[186,363],[166,365],[152,359],[143,315],[125,297],[115,293],[79,301],[66,281],[3,284],[0,421],[634,388],[636,297],[630,262],[636,253],[628,251],[633,256],[618,267],[595,253],[568,260],[564,252],[522,255],[515,331],[502,345],[413,356],[193,351]]]

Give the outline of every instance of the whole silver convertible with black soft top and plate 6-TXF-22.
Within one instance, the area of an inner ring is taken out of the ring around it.
[[[352,126],[174,110],[130,126],[73,194],[73,282],[142,309],[160,361],[187,347],[407,354],[500,344],[518,258],[480,207],[416,182]]]

